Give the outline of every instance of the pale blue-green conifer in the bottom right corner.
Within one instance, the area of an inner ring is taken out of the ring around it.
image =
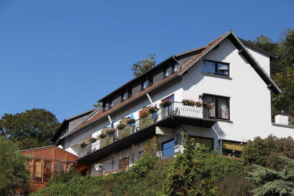
[[[271,170],[260,165],[252,165],[248,172],[249,180],[256,189],[255,196],[294,195],[294,160],[284,158],[285,166],[281,171]]]

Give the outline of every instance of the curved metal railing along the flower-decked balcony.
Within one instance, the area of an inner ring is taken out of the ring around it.
[[[98,139],[94,143],[88,143],[86,147],[79,149],[78,156],[83,157],[95,150],[98,150],[108,144],[115,142],[116,140],[120,140],[121,138],[124,138],[127,135],[130,135],[143,128],[146,128],[149,125],[152,125],[153,123],[168,118],[171,115],[187,116],[194,118],[208,118],[209,110],[203,111],[202,107],[184,105],[181,102],[172,102],[171,105],[169,105],[168,107],[158,108],[157,112],[149,114],[145,118],[137,119],[135,123],[126,125],[123,129],[117,130],[112,135],[107,135],[106,138]]]

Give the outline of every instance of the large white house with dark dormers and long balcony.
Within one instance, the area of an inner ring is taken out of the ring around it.
[[[238,156],[246,141],[269,134],[278,137],[294,136],[294,126],[288,116],[278,113],[271,121],[270,91],[281,90],[270,78],[270,59],[276,56],[228,31],[211,43],[167,58],[157,66],[111,92],[95,108],[64,120],[51,142],[78,155],[78,163],[92,164],[92,175],[97,175],[94,164],[106,170],[131,165],[132,145],[144,143],[155,135],[164,156],[173,156],[181,144],[181,132],[194,136],[213,150],[220,145],[221,153]],[[150,99],[147,96],[147,93]],[[182,99],[213,103],[210,117],[204,118],[203,108],[187,106]],[[173,103],[159,108],[157,113],[139,119],[139,112],[165,98]],[[88,143],[102,130],[125,123],[133,113],[136,122],[117,130],[113,135]],[[163,132],[162,132],[163,131]],[[87,146],[79,147],[86,141]],[[110,164],[109,155],[121,154],[120,162]]]

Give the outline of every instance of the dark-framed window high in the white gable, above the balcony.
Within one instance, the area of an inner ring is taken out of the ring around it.
[[[201,67],[201,73],[211,73],[229,77],[229,65],[229,63],[205,60],[204,66]]]

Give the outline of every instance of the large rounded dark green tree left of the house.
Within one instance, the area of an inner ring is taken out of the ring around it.
[[[59,125],[51,112],[33,108],[22,113],[5,113],[0,119],[0,133],[24,150],[51,145],[49,139]]]

